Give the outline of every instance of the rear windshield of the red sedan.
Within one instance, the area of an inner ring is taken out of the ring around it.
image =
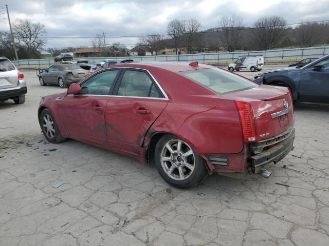
[[[254,83],[218,68],[183,71],[179,74],[211,89],[218,94],[243,91],[256,87]]]

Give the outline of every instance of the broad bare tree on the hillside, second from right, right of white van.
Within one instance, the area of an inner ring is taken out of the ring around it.
[[[253,24],[252,36],[259,48],[275,48],[282,38],[287,22],[280,16],[261,17]]]

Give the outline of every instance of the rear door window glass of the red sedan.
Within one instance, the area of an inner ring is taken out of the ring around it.
[[[126,70],[121,79],[119,96],[162,97],[147,73]]]

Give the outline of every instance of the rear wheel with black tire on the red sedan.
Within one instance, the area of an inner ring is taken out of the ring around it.
[[[154,159],[160,176],[179,189],[196,186],[208,176],[203,159],[185,141],[172,134],[159,139]]]

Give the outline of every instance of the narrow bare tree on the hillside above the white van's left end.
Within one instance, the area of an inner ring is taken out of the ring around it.
[[[223,16],[218,22],[222,45],[228,52],[234,52],[241,43],[242,23],[242,18],[234,14],[232,16]]]

